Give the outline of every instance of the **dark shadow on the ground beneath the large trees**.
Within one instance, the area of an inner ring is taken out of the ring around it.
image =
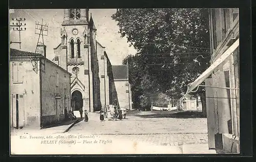
[[[162,113],[154,112],[152,114],[136,114],[135,116],[141,118],[205,118],[202,112],[172,112],[172,113]]]

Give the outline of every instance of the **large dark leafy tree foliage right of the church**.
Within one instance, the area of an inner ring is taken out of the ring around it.
[[[209,66],[207,9],[117,9],[112,18],[121,37],[138,50],[130,60],[138,73],[130,78],[141,95],[164,93],[178,99]]]

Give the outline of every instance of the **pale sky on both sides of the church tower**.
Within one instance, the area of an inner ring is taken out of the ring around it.
[[[54,58],[53,48],[55,48],[60,42],[60,29],[63,21],[63,9],[19,9],[14,10],[14,13],[10,13],[9,21],[12,22],[12,18],[26,18],[26,31],[20,32],[21,49],[25,51],[35,52],[35,47],[39,35],[35,34],[35,22],[43,19],[43,23],[49,24],[48,36],[44,36],[44,42],[47,46],[47,58],[52,60]],[[129,47],[127,39],[121,38],[118,33],[119,27],[117,22],[111,18],[116,12],[116,9],[90,9],[92,17],[97,29],[97,41],[105,46],[105,51],[108,54],[112,65],[121,65],[122,60],[127,55],[134,55],[136,50],[133,46]],[[13,31],[10,28],[10,41],[18,42],[18,31]],[[12,43],[10,48],[19,49],[19,45]]]

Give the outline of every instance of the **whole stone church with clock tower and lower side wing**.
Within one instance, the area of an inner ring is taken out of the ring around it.
[[[89,9],[64,9],[53,62],[72,74],[71,109],[77,115],[80,109],[99,111],[115,100],[120,107],[132,109],[129,65],[112,66],[96,33]]]

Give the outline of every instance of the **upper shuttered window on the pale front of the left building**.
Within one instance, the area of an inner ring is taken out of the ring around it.
[[[23,83],[23,63],[13,62],[12,63],[12,81],[13,83]]]

